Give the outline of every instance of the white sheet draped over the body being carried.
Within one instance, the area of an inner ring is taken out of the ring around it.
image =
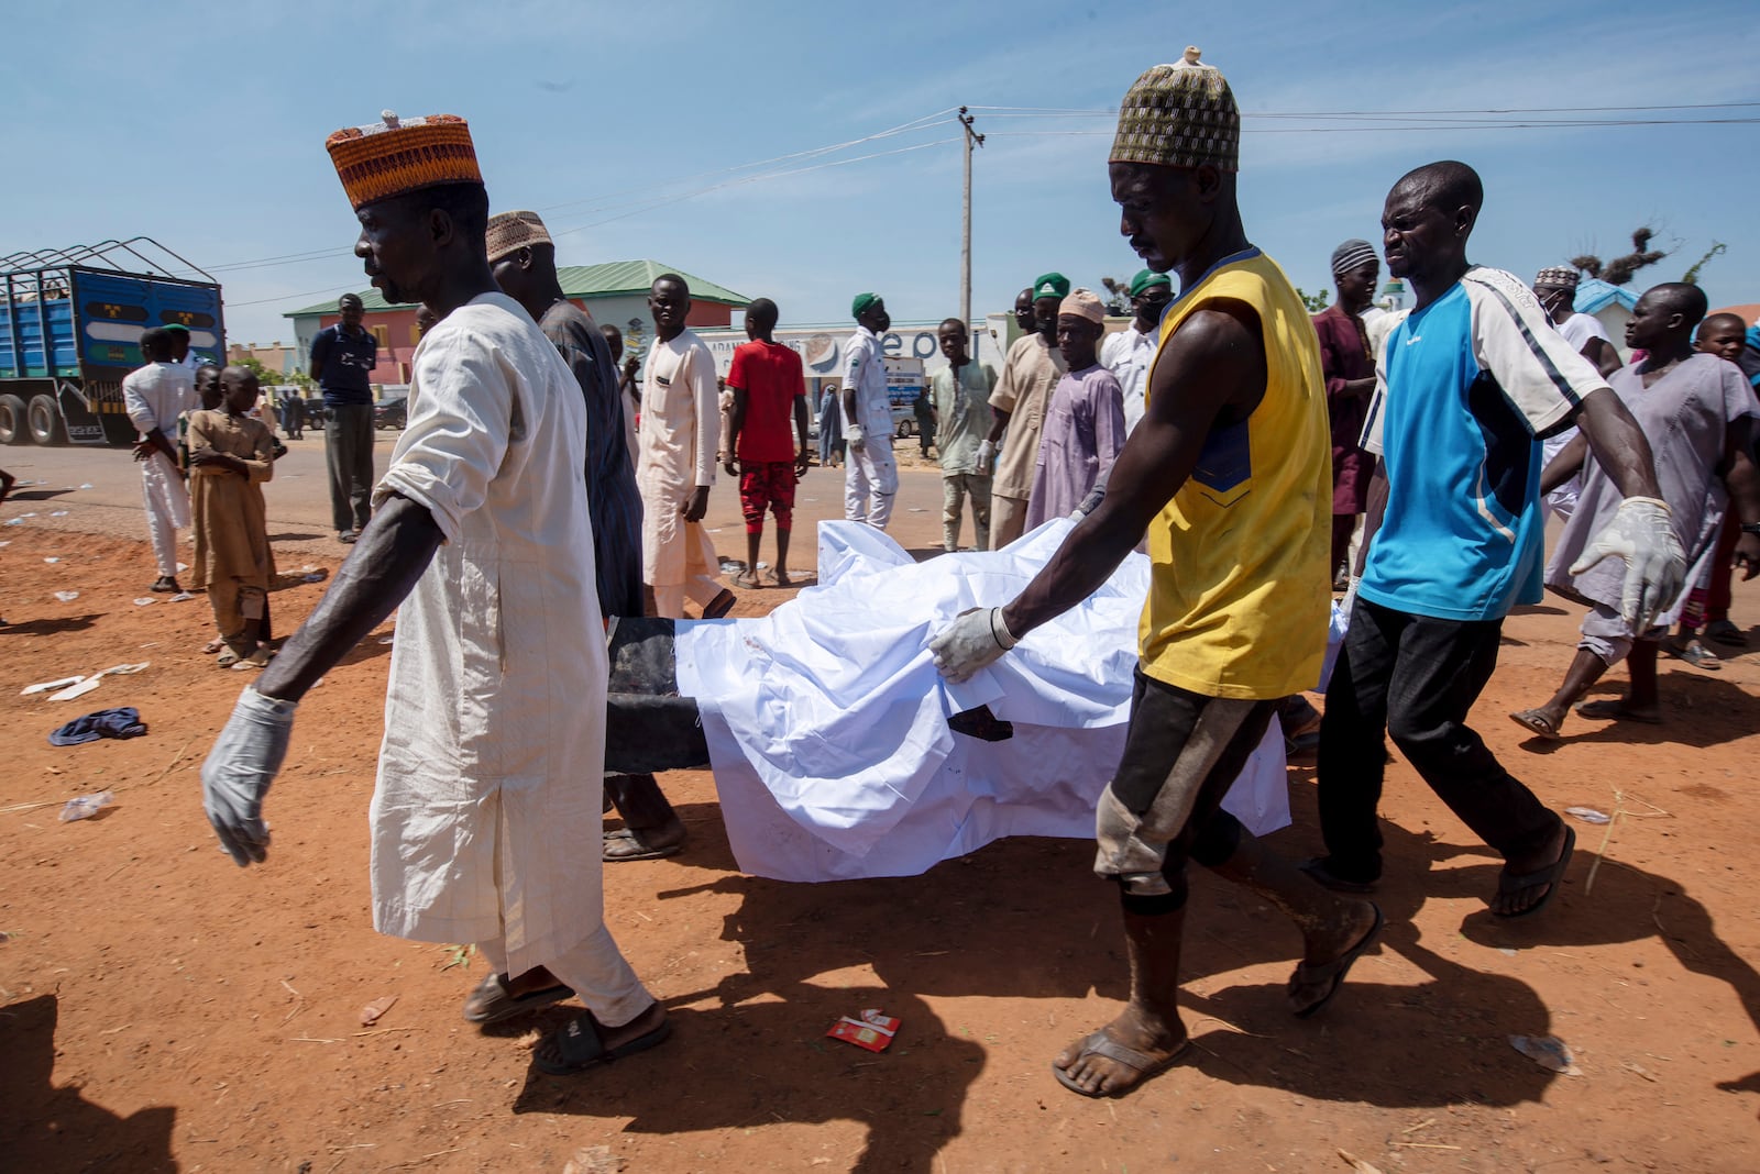
[[[1149,561],[963,685],[929,636],[1012,599],[1072,529],[1056,518],[998,552],[913,562],[885,534],[820,522],[820,585],[757,620],[681,624],[679,692],[697,699],[729,840],[778,880],[913,875],[1008,835],[1093,838],[1125,747]],[[989,705],[1014,736],[947,719]],[[1272,726],[1227,807],[1255,833],[1288,824]]]

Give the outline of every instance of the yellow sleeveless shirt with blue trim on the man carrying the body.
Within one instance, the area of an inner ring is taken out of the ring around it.
[[[1313,689],[1325,657],[1332,599],[1325,378],[1308,308],[1283,269],[1250,250],[1167,308],[1148,388],[1167,341],[1216,299],[1258,313],[1265,397],[1246,420],[1211,429],[1192,476],[1149,524],[1142,671],[1213,698],[1272,699]]]

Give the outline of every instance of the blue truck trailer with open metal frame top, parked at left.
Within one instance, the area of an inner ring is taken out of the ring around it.
[[[0,257],[0,445],[132,443],[121,380],[172,323],[225,355],[220,285],[151,237]]]

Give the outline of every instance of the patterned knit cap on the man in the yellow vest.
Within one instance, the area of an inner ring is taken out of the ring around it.
[[[1228,79],[1200,63],[1195,46],[1183,60],[1146,70],[1118,104],[1107,162],[1239,170],[1241,107]]]

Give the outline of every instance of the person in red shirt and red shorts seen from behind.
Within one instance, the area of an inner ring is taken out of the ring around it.
[[[734,351],[727,387],[734,392],[729,420],[727,469],[739,478],[739,510],[746,515],[746,569],[734,575],[739,587],[759,585],[759,543],[764,538],[764,508],[776,515],[776,585],[788,578],[788,531],[794,527],[794,483],[806,476],[806,380],[801,355],[774,337],[776,302],[767,297],[746,306],[746,337]],[[788,438],[788,417],[799,445]],[[737,467],[734,467],[737,464]]]

